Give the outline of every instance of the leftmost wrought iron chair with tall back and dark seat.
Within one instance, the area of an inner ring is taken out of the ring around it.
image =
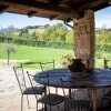
[[[42,94],[44,92],[44,87],[37,87],[37,85],[28,87],[27,82],[26,82],[26,77],[24,77],[22,64],[20,67],[13,67],[13,71],[14,71],[20,91],[21,91],[21,111],[23,109],[23,95],[27,95],[28,107],[30,109],[28,95],[29,94],[31,94],[31,95]],[[33,91],[33,89],[34,89],[34,91]],[[38,109],[37,109],[37,111],[38,111]]]

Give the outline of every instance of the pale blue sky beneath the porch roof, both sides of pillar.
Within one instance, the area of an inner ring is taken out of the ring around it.
[[[94,12],[95,28],[111,28],[111,7],[104,8]],[[27,16],[14,14],[14,13],[1,13],[0,14],[0,29],[13,26],[14,28],[23,28],[27,26],[44,26],[44,24],[56,24],[61,22],[59,20],[49,20],[39,17],[29,18]]]

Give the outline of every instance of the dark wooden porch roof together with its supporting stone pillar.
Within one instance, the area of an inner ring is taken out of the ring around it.
[[[73,38],[75,41],[73,44],[74,54],[84,61],[89,59],[89,68],[93,69],[95,52],[94,12],[109,6],[109,0],[0,0],[0,12],[62,20],[68,26],[70,26],[69,22],[73,21],[71,28],[75,31],[75,38]],[[97,111],[97,108],[93,111]]]

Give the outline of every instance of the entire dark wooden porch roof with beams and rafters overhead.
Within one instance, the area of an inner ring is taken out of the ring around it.
[[[109,0],[0,0],[0,12],[68,20],[82,18],[85,10],[98,11],[109,6]]]

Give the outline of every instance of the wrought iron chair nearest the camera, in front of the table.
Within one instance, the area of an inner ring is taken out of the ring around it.
[[[29,80],[31,82],[31,85],[33,88],[33,82],[32,82],[33,77],[30,75],[29,72],[27,72],[27,73],[28,73]],[[47,73],[47,75],[49,75],[49,74]],[[48,82],[49,82],[50,81],[49,77],[47,77],[47,78],[48,78]],[[34,90],[34,88],[33,88],[33,90]],[[37,98],[38,103],[40,102],[44,105],[49,105],[50,111],[52,111],[52,108],[51,108],[52,105],[58,105],[59,103],[64,102],[64,111],[65,111],[65,103],[68,102],[68,98],[64,95],[64,91],[63,91],[63,95],[60,95],[60,94],[57,94],[57,93],[51,93],[50,92],[50,87],[47,87],[47,93],[44,95],[42,95],[41,98],[39,98],[36,94],[36,98]],[[37,108],[38,108],[38,104],[37,104]],[[43,110],[43,108],[42,108],[42,110]]]

